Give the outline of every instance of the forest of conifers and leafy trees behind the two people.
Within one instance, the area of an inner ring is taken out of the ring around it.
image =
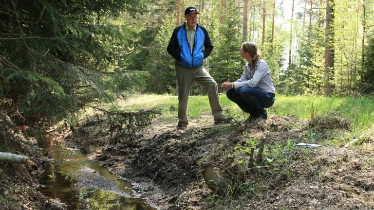
[[[214,45],[204,66],[218,84],[242,74],[248,40],[277,94],[374,91],[373,0],[1,0],[1,133],[12,124],[74,124],[82,107],[124,93],[176,94],[166,47],[190,5]]]

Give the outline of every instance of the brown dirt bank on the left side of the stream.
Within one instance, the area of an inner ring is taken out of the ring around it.
[[[0,140],[1,151],[30,157],[26,164],[0,162],[1,210],[62,210],[64,204],[37,191],[37,178],[48,161],[37,141],[26,139],[22,133]]]

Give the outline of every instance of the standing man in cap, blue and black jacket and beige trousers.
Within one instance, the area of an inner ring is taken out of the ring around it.
[[[215,124],[227,123],[232,119],[222,114],[217,83],[203,67],[204,58],[210,55],[213,45],[206,29],[197,24],[198,14],[195,7],[186,8],[187,22],[174,29],[167,48],[168,53],[175,58],[175,71],[179,86],[177,129],[187,127],[187,102],[193,81],[207,90]]]

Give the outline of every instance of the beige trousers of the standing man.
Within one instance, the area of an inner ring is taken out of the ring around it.
[[[193,81],[203,86],[207,90],[210,108],[214,120],[222,117],[222,106],[218,97],[217,83],[210,76],[208,71],[203,67],[186,68],[175,66],[178,81],[178,124],[188,124],[187,118],[187,102],[189,90]]]

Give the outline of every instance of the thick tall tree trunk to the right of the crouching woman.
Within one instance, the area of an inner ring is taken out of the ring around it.
[[[325,95],[331,95],[334,79],[334,0],[326,0],[325,21]]]

